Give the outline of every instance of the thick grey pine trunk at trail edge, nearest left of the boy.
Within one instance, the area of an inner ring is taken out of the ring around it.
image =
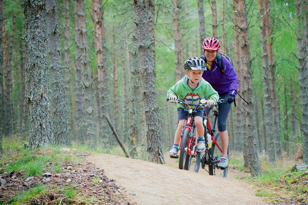
[[[159,123],[157,98],[155,92],[155,67],[152,63],[152,53],[149,39],[147,12],[142,0],[135,0],[135,18],[138,33],[138,51],[143,83],[143,105],[146,123],[146,139],[148,156],[151,162],[164,164],[163,148],[161,146],[161,127]],[[150,58],[151,57],[151,58]]]

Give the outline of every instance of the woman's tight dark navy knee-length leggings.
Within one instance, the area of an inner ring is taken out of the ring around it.
[[[225,98],[229,96],[228,94],[227,95],[222,95],[220,96],[221,98]],[[218,128],[218,131],[219,132],[223,132],[223,131],[226,131],[227,130],[227,117],[228,117],[228,114],[229,114],[229,110],[231,108],[231,103],[227,103],[227,104],[224,104],[224,103],[220,103],[218,104],[218,120],[217,120],[217,128]],[[210,112],[210,108],[206,108],[205,111],[206,111],[206,114],[209,116],[209,112]]]

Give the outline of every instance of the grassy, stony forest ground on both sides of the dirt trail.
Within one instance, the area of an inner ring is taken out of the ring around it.
[[[28,151],[17,139],[4,140],[3,145],[0,177],[6,182],[1,186],[0,204],[134,204],[126,198],[124,187],[104,175],[103,168],[84,160],[95,152],[87,146],[70,146],[69,151],[61,147]],[[124,156],[119,146],[109,154]],[[229,172],[251,184],[266,203],[307,204],[308,172],[291,171],[294,164],[302,162],[284,157],[272,166],[267,158],[259,155],[263,173],[251,177],[242,153],[233,153]]]

